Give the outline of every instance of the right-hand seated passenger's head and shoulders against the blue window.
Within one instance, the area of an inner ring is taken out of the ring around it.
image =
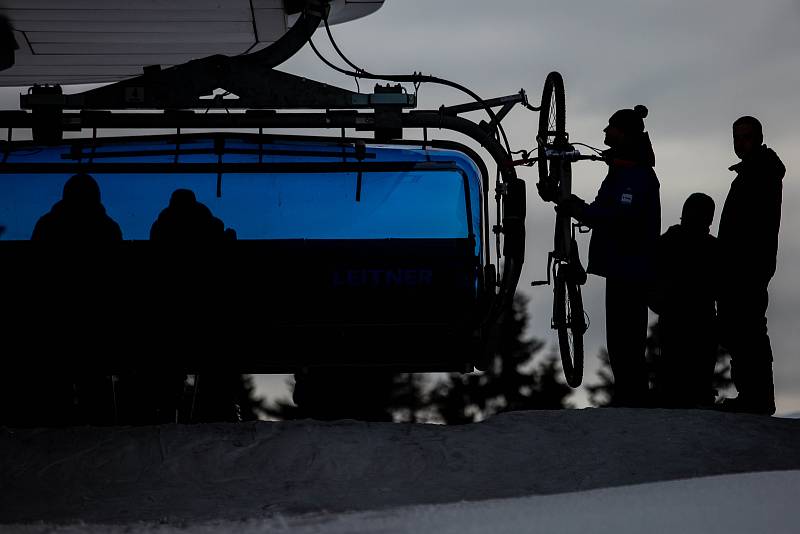
[[[225,225],[208,206],[197,201],[193,191],[176,189],[169,205],[150,228],[153,241],[181,243],[216,242],[225,239]]]

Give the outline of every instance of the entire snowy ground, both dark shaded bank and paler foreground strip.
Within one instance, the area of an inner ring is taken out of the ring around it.
[[[0,530],[798,532],[799,445],[679,410],[3,430]]]

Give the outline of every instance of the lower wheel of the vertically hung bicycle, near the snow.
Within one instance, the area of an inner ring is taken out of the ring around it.
[[[553,288],[553,327],[558,332],[558,348],[564,378],[572,388],[583,381],[583,333],[586,320],[580,286],[569,276],[570,266],[556,272]]]

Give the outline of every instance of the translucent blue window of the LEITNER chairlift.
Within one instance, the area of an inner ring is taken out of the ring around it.
[[[173,138],[91,145],[29,146],[8,153],[7,164],[28,164],[31,172],[0,176],[3,239],[30,239],[37,219],[61,199],[67,179],[81,172],[81,164],[97,164],[88,174],[125,240],[148,239],[171,194],[188,189],[242,240],[469,238],[480,255],[480,176],[469,158],[454,151],[368,147],[361,161],[375,170],[359,172],[352,147],[323,143],[228,139],[220,149],[214,139],[176,144]],[[35,172],[36,164],[70,163],[68,172]],[[227,165],[225,172],[179,170],[201,164],[214,171],[218,163]],[[236,172],[237,165],[270,163],[304,167]],[[103,172],[103,165],[112,164],[113,172]],[[125,164],[130,172],[124,172]]]

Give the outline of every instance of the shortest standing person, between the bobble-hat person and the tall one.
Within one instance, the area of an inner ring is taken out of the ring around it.
[[[714,200],[693,193],[683,204],[681,223],[656,240],[650,308],[659,315],[655,393],[661,406],[711,406],[716,396],[719,258],[710,234],[713,220]]]

